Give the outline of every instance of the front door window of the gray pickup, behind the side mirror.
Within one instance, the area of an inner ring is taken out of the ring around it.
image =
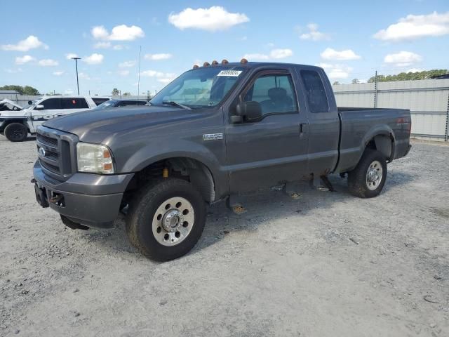
[[[258,77],[243,100],[259,102],[262,114],[297,111],[295,89],[289,74],[265,74]]]

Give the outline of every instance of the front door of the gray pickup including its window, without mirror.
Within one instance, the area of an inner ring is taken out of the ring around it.
[[[300,112],[291,70],[256,73],[239,101],[256,101],[262,119],[226,128],[230,192],[247,192],[307,175],[307,114]]]

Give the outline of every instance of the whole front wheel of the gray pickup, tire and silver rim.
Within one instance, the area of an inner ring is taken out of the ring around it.
[[[206,203],[189,182],[164,179],[143,188],[130,202],[128,239],[157,261],[179,258],[198,242],[206,223]]]

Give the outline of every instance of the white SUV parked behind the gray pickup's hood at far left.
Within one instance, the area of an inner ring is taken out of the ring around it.
[[[65,114],[93,109],[110,100],[107,97],[89,96],[43,96],[29,101],[27,107],[20,107],[11,100],[0,101],[0,133],[11,142],[22,142],[28,133],[36,133],[36,128],[44,121]]]

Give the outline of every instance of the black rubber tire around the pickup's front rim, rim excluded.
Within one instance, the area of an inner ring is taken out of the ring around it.
[[[158,208],[174,197],[181,197],[189,201],[194,210],[194,223],[189,234],[180,243],[164,246],[154,236],[153,220]],[[185,180],[166,178],[143,187],[130,201],[126,216],[126,234],[128,234],[131,244],[147,258],[168,261],[180,258],[195,246],[201,237],[205,223],[206,202],[201,194]]]

